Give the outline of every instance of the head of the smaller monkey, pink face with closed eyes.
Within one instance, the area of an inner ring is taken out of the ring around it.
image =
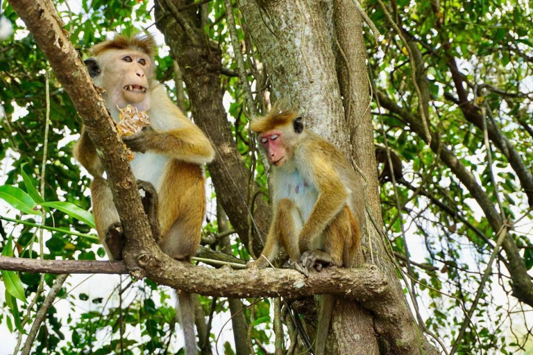
[[[276,109],[267,116],[253,119],[250,129],[257,132],[269,162],[277,167],[292,159],[294,146],[304,130],[302,118],[295,112]]]

